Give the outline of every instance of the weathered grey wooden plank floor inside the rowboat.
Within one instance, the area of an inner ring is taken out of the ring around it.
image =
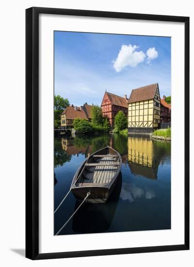
[[[86,167],[87,170],[83,172],[84,177],[81,177],[79,181],[80,186],[82,183],[107,184],[111,182],[117,170],[115,163],[118,164],[118,162],[115,162],[112,156],[103,156],[98,163],[103,165]]]

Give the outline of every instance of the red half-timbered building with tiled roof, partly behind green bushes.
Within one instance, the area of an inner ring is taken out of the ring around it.
[[[128,103],[127,103],[127,95],[123,97],[119,97],[109,92],[105,92],[101,108],[102,108],[102,116],[107,117],[109,119],[109,123],[111,126],[114,126],[114,117],[121,110],[127,117],[128,115]]]

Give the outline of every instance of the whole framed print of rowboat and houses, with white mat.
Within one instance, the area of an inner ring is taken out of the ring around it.
[[[26,257],[170,250],[189,250],[189,17],[27,9]]]

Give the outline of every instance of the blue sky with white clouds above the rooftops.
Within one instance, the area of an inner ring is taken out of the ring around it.
[[[129,97],[159,83],[171,94],[171,38],[54,32],[54,93],[80,106],[101,104],[105,90]]]

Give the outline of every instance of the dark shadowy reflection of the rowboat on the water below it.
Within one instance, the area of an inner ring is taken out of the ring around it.
[[[106,203],[81,206],[73,217],[72,229],[75,233],[103,233],[110,228],[118,204],[122,187],[122,174],[118,176],[113,192]],[[80,205],[76,201],[75,210]]]

